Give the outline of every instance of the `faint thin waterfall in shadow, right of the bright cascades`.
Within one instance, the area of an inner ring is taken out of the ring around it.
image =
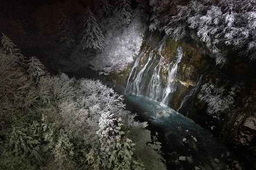
[[[204,74],[201,75],[201,77],[199,78],[199,80],[197,80],[195,87],[189,92],[189,94],[186,95],[186,96],[183,98],[183,100],[182,100],[182,102],[181,102],[181,104],[180,104],[180,108],[177,109],[177,112],[179,112],[179,110],[180,110],[181,108],[183,108],[183,107],[187,104],[189,98],[192,98],[192,101],[191,101],[191,103],[190,103],[190,106],[191,106],[190,108],[192,108],[192,105],[194,104],[195,94],[197,94],[199,88],[201,87],[201,83],[202,83],[202,78],[203,78],[203,76],[204,76]],[[187,114],[186,114],[186,116],[189,116],[189,111],[190,111],[190,109],[187,109]]]

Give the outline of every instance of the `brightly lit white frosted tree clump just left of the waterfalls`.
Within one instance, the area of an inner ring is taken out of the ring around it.
[[[122,23],[123,19],[118,14],[101,20],[99,24],[106,47],[90,60],[94,70],[122,71],[134,61],[142,44],[146,24],[139,9],[134,10],[133,15],[134,19],[128,26]]]

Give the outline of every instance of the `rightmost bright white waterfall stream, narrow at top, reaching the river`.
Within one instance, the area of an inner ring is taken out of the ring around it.
[[[177,60],[176,60],[175,64],[172,66],[172,69],[169,71],[168,81],[167,81],[167,84],[166,84],[166,89],[164,90],[163,99],[161,101],[161,103],[164,104],[164,105],[168,105],[169,94],[173,93],[173,91],[174,91],[173,81],[175,80],[178,64],[180,63],[182,56],[183,56],[182,48],[178,47],[177,48],[177,55],[176,55]]]

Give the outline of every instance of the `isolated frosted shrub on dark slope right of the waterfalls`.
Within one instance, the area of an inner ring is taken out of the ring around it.
[[[212,83],[202,85],[198,98],[207,103],[207,113],[219,117],[227,113],[235,105],[236,93],[241,89],[241,84],[236,83],[227,91],[224,86],[216,87]]]

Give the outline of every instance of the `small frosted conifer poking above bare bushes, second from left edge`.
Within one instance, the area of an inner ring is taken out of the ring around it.
[[[38,82],[39,77],[45,74],[45,67],[36,57],[30,57],[28,63],[29,69],[27,72],[29,73],[31,79],[35,79],[35,82]]]

